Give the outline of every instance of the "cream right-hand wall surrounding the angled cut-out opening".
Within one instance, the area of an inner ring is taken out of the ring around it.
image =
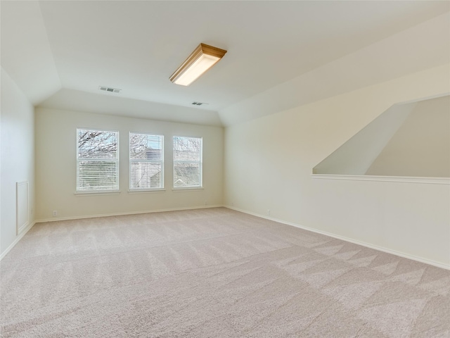
[[[450,186],[311,170],[393,104],[449,92],[449,65],[227,127],[225,203],[450,267]]]

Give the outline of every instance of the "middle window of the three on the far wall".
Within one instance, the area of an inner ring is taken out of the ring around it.
[[[129,189],[164,187],[164,137],[129,133]]]

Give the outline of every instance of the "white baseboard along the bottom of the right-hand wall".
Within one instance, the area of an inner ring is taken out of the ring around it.
[[[282,223],[282,224],[285,224],[285,225],[291,225],[293,227],[298,227],[300,229],[311,231],[311,232],[316,232],[317,234],[324,234],[324,235],[326,235],[328,237],[333,237],[335,239],[341,239],[342,241],[345,241],[345,242],[350,242],[350,243],[353,243],[353,244],[366,246],[367,248],[370,248],[370,249],[383,251],[385,253],[391,253],[392,255],[403,257],[403,258],[408,258],[408,259],[411,259],[413,261],[418,261],[420,263],[434,265],[434,266],[437,266],[437,268],[443,268],[443,269],[446,269],[446,270],[450,270],[450,265],[447,265],[447,264],[444,264],[444,263],[439,263],[437,261],[430,261],[429,259],[426,259],[426,258],[422,258],[422,257],[418,257],[418,256],[412,256],[412,255],[409,255],[408,253],[403,253],[403,252],[395,251],[395,250],[392,250],[392,249],[387,249],[387,248],[385,248],[383,246],[377,246],[377,245],[369,244],[369,243],[366,243],[366,242],[361,242],[361,241],[358,241],[356,239],[351,239],[351,238],[348,238],[348,237],[340,236],[339,234],[332,234],[331,232],[317,230],[317,229],[313,229],[311,227],[304,227],[303,225],[298,225],[298,224],[295,224],[295,223],[286,222],[285,220],[278,220],[277,218],[268,217],[266,215],[261,215],[259,213],[252,213],[251,211],[245,211],[245,210],[242,210],[242,209],[239,209],[239,208],[235,208],[234,206],[224,206],[224,207],[232,209],[232,210],[239,211],[241,213],[248,213],[249,215],[254,215],[254,216],[257,216],[257,217],[260,217],[260,218],[265,218],[266,220],[273,220],[274,222]]]

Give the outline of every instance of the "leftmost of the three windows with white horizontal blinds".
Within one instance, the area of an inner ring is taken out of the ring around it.
[[[119,132],[77,129],[77,191],[119,189]]]

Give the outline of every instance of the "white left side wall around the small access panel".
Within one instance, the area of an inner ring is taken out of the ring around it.
[[[15,183],[28,181],[29,224],[34,222],[34,108],[1,68],[1,218],[0,256],[16,234]]]

